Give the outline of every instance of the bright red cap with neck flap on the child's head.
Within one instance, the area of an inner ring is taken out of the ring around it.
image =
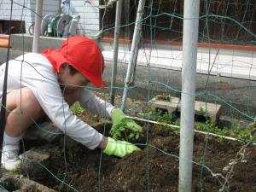
[[[42,55],[52,63],[56,72],[64,63],[68,63],[96,87],[107,87],[102,80],[104,58],[97,44],[84,36],[75,36],[63,41],[61,49],[45,49]]]

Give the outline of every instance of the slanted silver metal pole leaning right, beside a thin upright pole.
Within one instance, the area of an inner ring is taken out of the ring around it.
[[[140,42],[142,25],[143,25],[144,5],[145,5],[145,0],[140,0],[137,8],[136,23],[134,27],[134,33],[133,33],[132,44],[131,44],[131,55],[130,55],[130,60],[127,68],[127,73],[125,78],[125,90],[123,93],[122,104],[121,104],[121,109],[123,111],[125,110],[127,93],[128,93],[129,83],[131,79],[131,70],[133,69],[134,65],[136,65],[137,63],[138,44]]]

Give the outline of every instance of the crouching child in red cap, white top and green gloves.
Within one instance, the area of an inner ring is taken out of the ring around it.
[[[67,136],[87,148],[103,148],[108,155],[123,157],[139,150],[131,143],[103,137],[69,109],[79,101],[83,108],[106,118],[115,125],[142,127],[125,119],[119,108],[84,89],[88,83],[105,87],[102,81],[104,60],[96,43],[82,36],[67,38],[60,49],[45,49],[41,54],[27,53],[9,61],[7,117],[3,136],[2,165],[15,169],[20,164],[19,142],[33,122],[45,115]],[[3,95],[5,63],[0,66],[0,97]]]

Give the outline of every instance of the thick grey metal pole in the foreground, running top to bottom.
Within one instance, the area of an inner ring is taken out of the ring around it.
[[[184,0],[179,192],[191,191],[192,185],[199,4],[200,0]]]

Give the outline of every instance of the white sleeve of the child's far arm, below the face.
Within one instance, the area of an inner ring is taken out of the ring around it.
[[[79,103],[82,108],[86,108],[90,113],[96,113],[108,119],[110,119],[110,113],[114,108],[109,102],[102,100],[92,91],[86,89],[82,90]]]

